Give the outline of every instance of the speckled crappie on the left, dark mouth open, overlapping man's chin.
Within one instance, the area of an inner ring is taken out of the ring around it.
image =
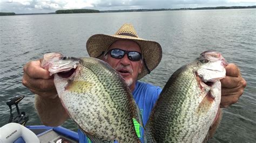
[[[138,106],[123,78],[106,62],[49,53],[41,66],[54,74],[64,108],[93,142],[140,141],[134,127],[143,126]]]

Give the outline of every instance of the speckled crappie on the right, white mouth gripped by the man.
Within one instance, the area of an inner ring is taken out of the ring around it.
[[[227,62],[206,51],[166,83],[145,127],[147,142],[203,142],[217,118]]]

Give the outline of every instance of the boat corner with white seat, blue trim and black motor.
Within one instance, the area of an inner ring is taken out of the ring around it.
[[[78,133],[68,128],[44,125],[25,126],[29,116],[20,112],[18,103],[24,96],[15,96],[6,104],[10,108],[9,123],[0,127],[0,142],[79,142]],[[12,105],[16,106],[18,115],[14,118]]]

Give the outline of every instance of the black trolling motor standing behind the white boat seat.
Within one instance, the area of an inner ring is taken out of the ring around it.
[[[6,104],[10,108],[10,119],[8,123],[18,123],[21,125],[25,125],[26,122],[29,120],[29,116],[26,115],[25,112],[19,112],[18,103],[24,98],[24,95],[21,96],[15,96],[14,98],[11,98],[10,101],[6,102]],[[18,115],[14,118],[14,115],[12,114],[12,105],[16,106]]]

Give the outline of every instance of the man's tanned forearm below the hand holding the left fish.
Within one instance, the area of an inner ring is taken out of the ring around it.
[[[42,123],[46,126],[59,126],[69,118],[58,97],[48,99],[36,95],[35,108]]]

